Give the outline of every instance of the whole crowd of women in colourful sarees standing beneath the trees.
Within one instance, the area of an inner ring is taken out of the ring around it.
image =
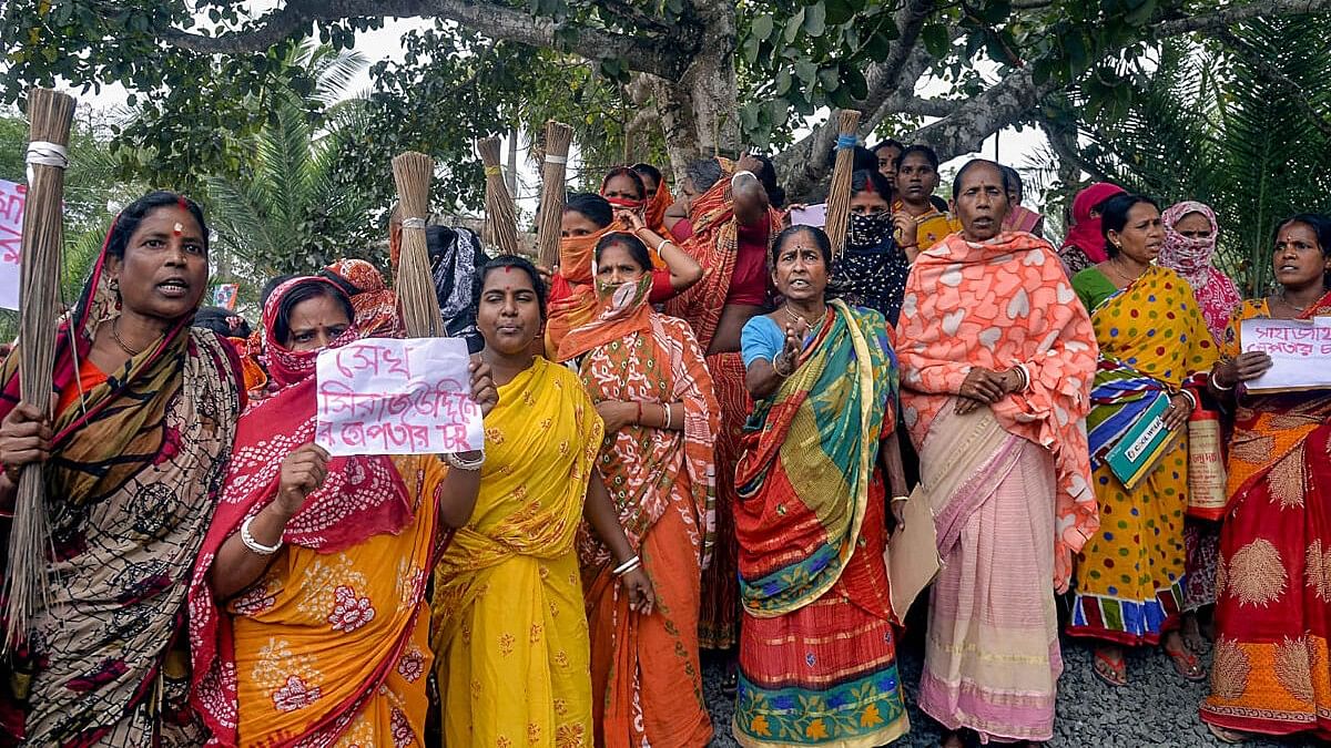
[[[43,470],[59,580],[7,656],[5,743],[697,747],[699,652],[737,646],[740,744],[882,745],[909,731],[908,514],[941,560],[918,705],[945,745],[1051,737],[1062,594],[1114,685],[1139,644],[1206,679],[1214,606],[1211,731],[1331,736],[1331,401],[1250,391],[1271,359],[1242,341],[1331,317],[1331,220],[1282,222],[1278,290],[1240,301],[1202,204],[1094,185],[1055,252],[1010,169],[966,164],[940,206],[932,150],[872,153],[844,248],[756,157],[689,165],[677,200],[615,169],[550,269],[434,237],[484,422],[450,455],[314,443],[318,353],[402,334],[373,266],[280,280],[249,339],[192,327],[202,212],[128,206],[52,413],[21,355],[0,371],[0,503],[31,522]],[[1206,407],[1221,522],[1189,512]],[[1157,413],[1173,438],[1125,478]]]

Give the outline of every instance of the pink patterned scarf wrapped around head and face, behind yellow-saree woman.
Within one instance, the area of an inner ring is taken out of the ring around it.
[[[1205,240],[1190,240],[1179,234],[1174,226],[1189,213],[1205,216],[1211,224],[1211,236]],[[1182,276],[1193,286],[1193,295],[1197,297],[1206,327],[1211,331],[1211,338],[1219,343],[1230,323],[1230,314],[1238,309],[1243,297],[1239,295],[1234,281],[1211,264],[1221,230],[1215,212],[1201,202],[1185,201],[1166,208],[1161,214],[1161,222],[1165,224],[1165,245],[1161,246],[1158,262]]]

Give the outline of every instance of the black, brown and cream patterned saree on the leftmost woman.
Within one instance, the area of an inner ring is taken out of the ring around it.
[[[108,240],[110,233],[108,232]],[[245,402],[234,351],[190,317],[87,379],[81,362],[120,314],[106,249],[56,335],[56,414],[44,467],[53,555],[48,604],[11,660],[29,677],[29,745],[201,744],[189,708],[185,594]],[[19,402],[21,354],[0,370],[0,418]]]

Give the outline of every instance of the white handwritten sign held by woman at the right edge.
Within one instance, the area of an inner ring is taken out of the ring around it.
[[[1247,383],[1252,391],[1331,387],[1331,318],[1244,319],[1243,351],[1260,350],[1271,369]]]

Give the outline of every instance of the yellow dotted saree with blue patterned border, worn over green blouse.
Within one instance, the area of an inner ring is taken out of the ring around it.
[[[1217,349],[1191,287],[1173,270],[1153,265],[1119,290],[1091,268],[1073,286],[1091,310],[1101,349],[1086,427],[1102,523],[1078,558],[1067,632],[1157,644],[1182,611],[1187,435],[1177,437],[1131,491],[1105,455],[1157,398],[1209,371]]]

